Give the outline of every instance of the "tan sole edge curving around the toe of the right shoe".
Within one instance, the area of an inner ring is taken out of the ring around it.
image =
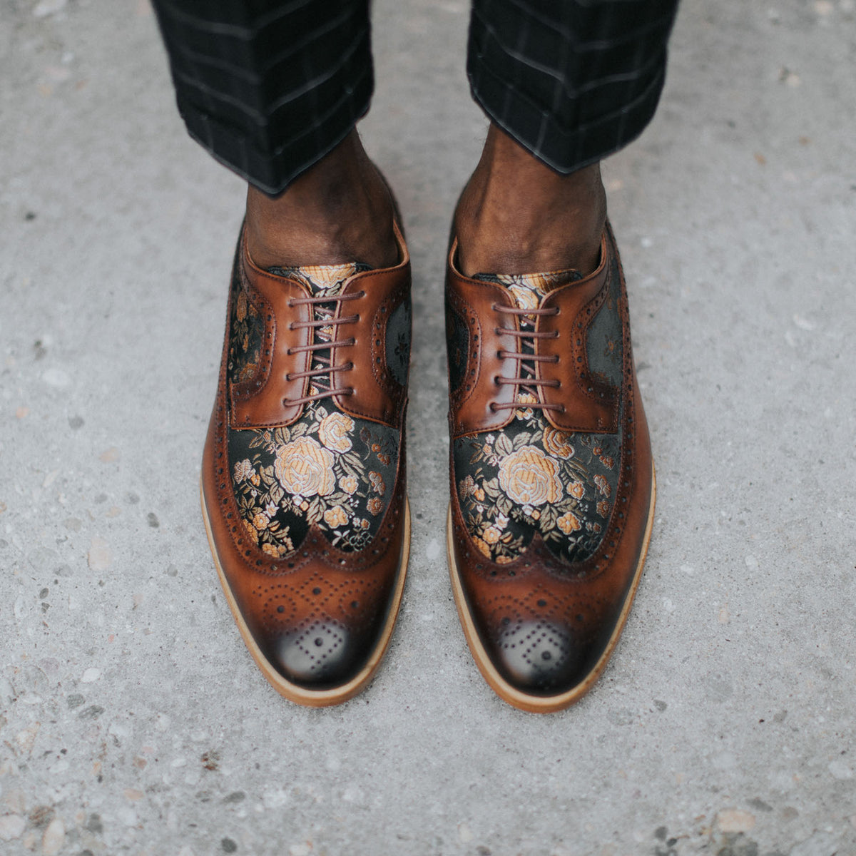
[[[639,588],[639,580],[642,578],[642,568],[645,566],[645,557],[648,556],[648,544],[651,542],[651,529],[654,524],[654,506],[657,500],[657,474],[654,472],[654,465],[651,464],[651,506],[648,509],[648,520],[645,524],[645,543],[642,545],[642,552],[639,556],[639,563],[636,570],[633,572],[633,585],[630,587],[630,594],[621,609],[621,615],[618,617],[618,623],[615,625],[612,635],[609,637],[609,643],[601,654],[600,658],[595,663],[585,680],[577,684],[567,693],[562,693],[555,696],[535,696],[521,692],[516,687],[512,687],[502,675],[499,674],[493,663],[490,662],[487,651],[484,650],[481,639],[479,639],[479,631],[476,630],[473,624],[473,618],[470,615],[469,607],[467,606],[467,598],[464,595],[461,579],[458,574],[458,568],[455,564],[455,548],[453,544],[452,534],[452,507],[449,504],[449,514],[446,520],[446,555],[449,558],[449,577],[452,580],[452,591],[455,594],[455,606],[458,608],[458,616],[461,619],[461,627],[464,629],[464,636],[467,637],[467,645],[469,645],[470,653],[479,667],[482,677],[488,682],[490,688],[502,698],[503,701],[516,707],[518,710],[526,710],[529,713],[554,713],[556,710],[564,710],[574,702],[582,698],[591,687],[594,686],[597,678],[609,662],[609,657],[615,650],[615,645],[618,644],[618,638],[621,636],[621,631],[624,629],[627,615],[630,614],[630,607],[633,605],[633,598],[636,597],[636,589]]]

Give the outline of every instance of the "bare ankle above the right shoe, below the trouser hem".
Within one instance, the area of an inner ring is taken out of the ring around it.
[[[545,166],[495,126],[455,211],[461,273],[597,267],[606,220],[599,163],[570,175]]]

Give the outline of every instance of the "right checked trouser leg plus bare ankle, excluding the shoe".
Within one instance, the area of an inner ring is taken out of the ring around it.
[[[594,269],[599,161],[651,120],[676,8],[475,0],[467,71],[491,127],[455,217],[463,273]]]

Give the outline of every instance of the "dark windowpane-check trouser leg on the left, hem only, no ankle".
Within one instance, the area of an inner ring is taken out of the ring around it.
[[[181,116],[239,175],[279,193],[366,114],[368,0],[153,0]]]

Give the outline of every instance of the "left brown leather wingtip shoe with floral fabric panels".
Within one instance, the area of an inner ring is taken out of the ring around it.
[[[286,698],[370,680],[401,604],[410,261],[260,270],[241,237],[202,509],[241,636]]]

